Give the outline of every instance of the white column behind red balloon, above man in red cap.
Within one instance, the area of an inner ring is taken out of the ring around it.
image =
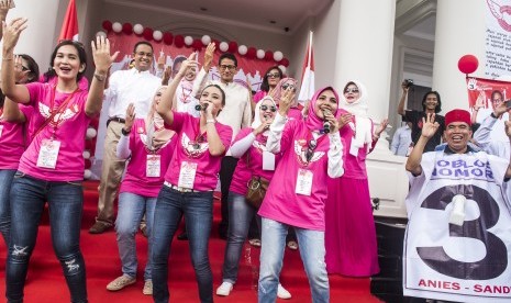
[[[458,69],[462,56],[479,59],[473,76],[485,77],[485,8],[486,1],[436,1],[433,90],[442,98],[442,114],[453,109],[467,109],[465,75]]]

